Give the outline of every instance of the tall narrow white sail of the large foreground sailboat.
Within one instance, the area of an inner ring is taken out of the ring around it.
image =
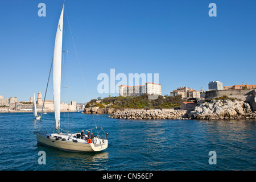
[[[62,6],[59,24],[57,27],[55,47],[53,52],[53,101],[55,110],[55,129],[60,128],[60,80],[61,80],[61,53],[62,53],[62,36],[63,36],[63,9]]]

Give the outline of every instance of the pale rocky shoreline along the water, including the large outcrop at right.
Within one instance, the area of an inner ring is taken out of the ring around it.
[[[187,110],[144,110],[90,107],[86,114],[110,114],[118,119],[256,119],[247,102],[237,99],[216,99],[199,102],[191,111]]]

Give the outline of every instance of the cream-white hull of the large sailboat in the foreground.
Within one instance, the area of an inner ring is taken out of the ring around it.
[[[65,138],[65,140],[56,139],[48,133],[36,133],[38,143],[49,147],[57,148],[59,150],[73,151],[73,152],[94,152],[102,151],[108,147],[107,139],[94,139],[96,144],[87,143],[86,140],[72,138],[71,134],[56,134],[58,137]],[[73,142],[73,139],[78,142]],[[104,143],[103,143],[104,142]]]

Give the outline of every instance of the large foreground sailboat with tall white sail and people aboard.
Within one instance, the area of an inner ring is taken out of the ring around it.
[[[38,129],[38,132],[35,132],[36,139],[39,144],[57,148],[59,150],[75,151],[75,152],[102,151],[108,147],[108,139],[107,139],[108,133],[105,133],[106,136],[104,139],[103,137],[101,138],[99,135],[99,133],[103,130],[103,127],[100,127],[101,128],[100,132],[97,133],[96,137],[94,137],[93,139],[90,139],[88,135],[84,135],[84,137],[80,137],[79,135],[77,135],[77,133],[61,133],[60,132],[60,86],[61,86],[61,53],[62,53],[62,41],[63,41],[63,10],[64,10],[64,4],[62,6],[60,19],[57,26],[55,47],[54,47],[53,59],[52,59],[55,130],[57,130],[58,133],[54,133],[54,131],[53,133],[39,132],[39,129]],[[48,82],[49,82],[49,78],[48,78]],[[48,84],[47,84],[47,87],[48,87]],[[44,107],[44,104],[43,104],[43,107]],[[42,112],[43,112],[43,108],[42,108]],[[40,127],[40,123],[39,123],[39,127]],[[96,126],[96,129],[97,129],[97,126]],[[90,131],[90,130],[92,129],[89,129],[86,131]]]

